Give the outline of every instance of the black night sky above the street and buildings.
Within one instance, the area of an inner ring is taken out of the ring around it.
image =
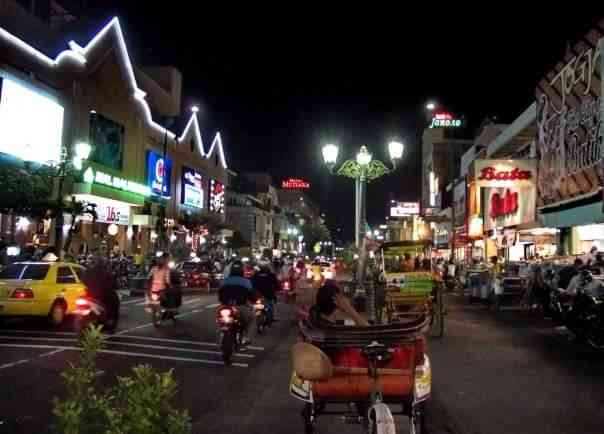
[[[533,101],[535,84],[567,42],[604,17],[588,4],[573,11],[552,3],[540,13],[508,3],[508,12],[499,3],[465,11],[434,3],[431,13],[412,13],[407,3],[398,3],[406,10],[362,11],[99,3],[95,18],[120,17],[135,63],[183,73],[183,105],[200,106],[206,146],[220,131],[234,170],[266,171],[277,183],[308,179],[329,226],[348,239],[354,184],[327,174],[323,144],[341,145],[347,158],[366,144],[386,161],[389,140],[405,143],[398,171],[369,186],[368,219],[379,223],[390,194],[419,200],[428,99],[465,116],[470,138],[487,116],[510,122]]]

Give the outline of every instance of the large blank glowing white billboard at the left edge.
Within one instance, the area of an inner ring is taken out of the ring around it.
[[[63,112],[56,99],[0,77],[0,152],[37,163],[60,161]]]

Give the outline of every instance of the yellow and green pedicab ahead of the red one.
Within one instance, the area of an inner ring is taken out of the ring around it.
[[[430,267],[426,270],[410,271],[404,263],[408,254],[415,262],[418,255],[431,257],[431,245],[425,241],[398,241],[381,246],[383,281],[385,285],[384,317],[388,323],[414,316],[418,311],[430,312],[430,332],[442,337],[445,333],[445,304],[443,279]]]

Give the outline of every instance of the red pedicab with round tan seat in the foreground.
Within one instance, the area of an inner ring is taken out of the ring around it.
[[[410,433],[424,433],[429,322],[428,311],[369,327],[333,325],[316,313],[302,319],[302,341],[291,350],[290,394],[304,402],[305,434],[316,432],[322,415],[343,416],[368,434],[395,434],[393,415],[404,415]]]

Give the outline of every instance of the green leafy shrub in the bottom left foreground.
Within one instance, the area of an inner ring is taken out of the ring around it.
[[[61,374],[65,399],[54,398],[53,414],[62,434],[187,434],[191,418],[175,409],[177,391],[172,371],[158,373],[148,365],[132,368],[105,390],[97,384],[96,355],[104,346],[101,327],[89,327],[80,338],[76,364]]]

